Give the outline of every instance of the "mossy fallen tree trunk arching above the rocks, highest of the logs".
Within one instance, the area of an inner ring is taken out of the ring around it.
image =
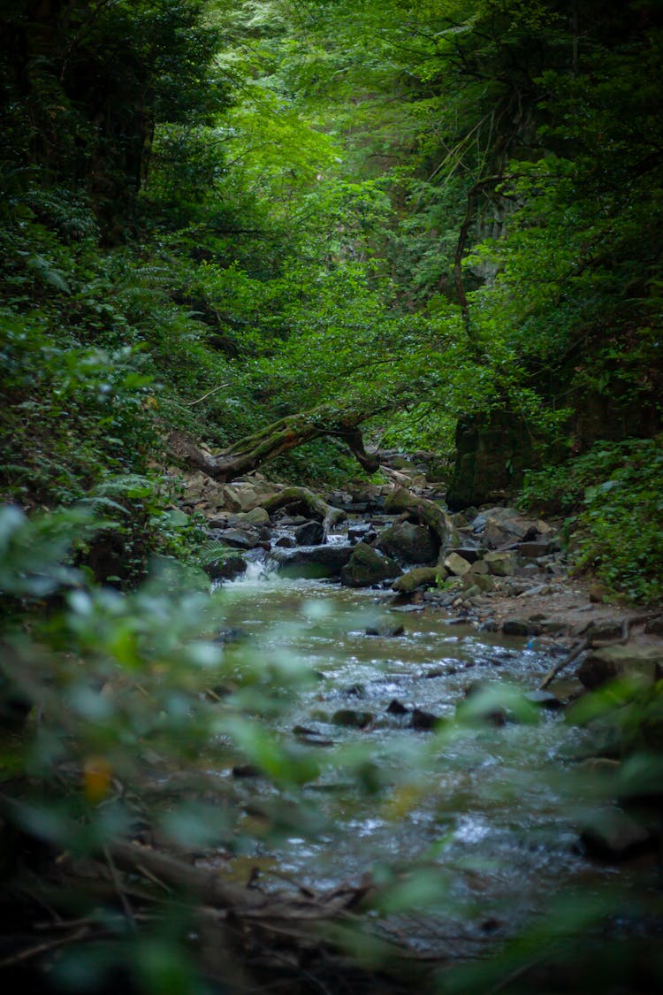
[[[207,453],[181,432],[171,432],[169,445],[175,456],[222,484],[323,436],[341,440],[364,470],[375,473],[380,467],[380,454],[367,452],[359,426],[377,413],[375,407],[320,404],[280,418],[220,453]]]

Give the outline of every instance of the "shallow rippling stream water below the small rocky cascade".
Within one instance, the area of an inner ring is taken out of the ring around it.
[[[266,663],[312,676],[275,725],[286,741],[317,745],[321,768],[303,789],[321,833],[290,830],[264,852],[257,844],[246,867],[316,891],[370,873],[387,886],[385,911],[415,948],[455,954],[510,934],[562,884],[593,895],[634,873],[617,876],[582,854],[579,827],[599,802],[573,774],[585,733],[563,709],[530,706],[516,720],[509,709],[505,722],[449,722],[434,732],[412,727],[414,707],[453,719],[473,682],[519,695],[536,689],[549,652],[438,608],[395,607],[389,590],[285,579],[259,563],[226,591],[228,624],[247,637],[229,646],[231,660],[249,646]],[[404,634],[366,634],[385,620],[403,623]],[[408,710],[394,713],[395,701]],[[338,724],[343,711],[370,717],[361,728]],[[325,764],[327,751],[344,746],[366,750],[369,790]],[[248,801],[275,794],[263,778],[238,779],[237,790]],[[242,860],[238,867],[241,876]],[[406,914],[411,899],[425,917]]]

